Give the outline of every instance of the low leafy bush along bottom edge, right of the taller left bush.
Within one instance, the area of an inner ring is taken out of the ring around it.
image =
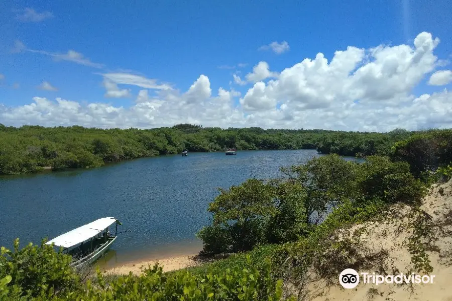
[[[251,264],[250,264],[251,265]],[[282,281],[273,281],[270,265],[256,268],[231,268],[217,274],[202,275],[189,271],[164,274],[155,265],[140,277],[121,277],[107,289],[101,276],[100,289],[87,285],[84,295],[95,300],[280,300]]]

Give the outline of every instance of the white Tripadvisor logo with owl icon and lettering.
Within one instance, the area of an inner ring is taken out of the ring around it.
[[[360,277],[361,274],[361,277]],[[346,268],[339,274],[339,283],[344,288],[355,288],[360,283],[360,278],[362,278],[362,282],[365,284],[373,283],[375,285],[383,284],[383,283],[433,283],[433,278],[435,275],[417,275],[414,273],[404,274],[400,273],[397,275],[379,275],[376,273],[360,273],[353,268]]]

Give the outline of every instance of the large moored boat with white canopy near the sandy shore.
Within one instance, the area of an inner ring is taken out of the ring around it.
[[[111,235],[108,231],[112,225],[115,225],[115,235]],[[115,218],[100,218],[55,237],[46,244],[53,243],[55,247],[62,247],[64,253],[73,257],[70,265],[79,268],[93,263],[105,254],[117,238],[118,225],[121,225],[121,222]]]

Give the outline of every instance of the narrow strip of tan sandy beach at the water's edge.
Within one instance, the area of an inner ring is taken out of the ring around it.
[[[129,274],[132,272],[136,275],[140,275],[142,273],[142,267],[148,267],[148,265],[153,266],[157,262],[163,266],[163,271],[172,271],[178,270],[185,267],[195,266],[199,264],[196,260],[197,254],[183,255],[183,256],[174,256],[171,258],[162,258],[162,259],[154,259],[154,260],[145,260],[138,262],[130,262],[117,267],[105,269],[106,273],[114,273],[114,274]]]

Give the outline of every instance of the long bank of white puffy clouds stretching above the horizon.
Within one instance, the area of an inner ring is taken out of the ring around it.
[[[413,93],[438,67],[440,60],[434,54],[438,43],[438,38],[423,32],[411,45],[350,46],[336,51],[331,60],[318,53],[281,72],[270,71],[268,64],[261,62],[247,75],[247,81],[254,84],[243,96],[224,88],[212,90],[206,75],[200,75],[186,91],[179,91],[139,75],[106,73],[104,79],[115,89],[123,84],[140,87],[135,101],[113,106],[95,100],[86,104],[35,97],[27,105],[0,105],[0,120],[12,125],[120,128],[185,122],[225,128],[447,128],[452,127],[452,93],[447,89]],[[238,78],[236,73],[236,82]],[[154,90],[152,96],[148,89]]]

